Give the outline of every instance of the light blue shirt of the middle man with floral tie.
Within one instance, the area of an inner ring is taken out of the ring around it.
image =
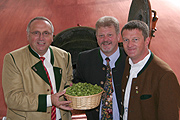
[[[101,56],[103,58],[103,64],[106,65],[106,55],[100,51],[101,53]],[[116,52],[114,54],[112,54],[111,56],[109,56],[109,65],[110,65],[110,68],[112,70],[112,68],[115,67],[115,62],[117,61],[117,59],[119,58],[120,56],[120,52],[119,52],[119,48],[116,50]],[[113,85],[113,120],[120,120],[120,115],[119,115],[119,109],[118,109],[118,104],[117,104],[117,99],[116,99],[116,92],[115,92],[115,88],[114,88],[114,82],[113,82],[113,74],[112,74],[112,85]],[[102,109],[102,101],[101,101],[101,104],[100,104],[100,111],[99,111],[99,119],[101,120],[101,109]]]

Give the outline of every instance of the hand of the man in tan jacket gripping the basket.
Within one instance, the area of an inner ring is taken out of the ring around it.
[[[69,107],[69,103],[71,103],[71,101],[59,101],[59,97],[64,95],[65,92],[66,91],[64,90],[62,92],[51,95],[52,105],[64,110],[73,110],[71,107]]]

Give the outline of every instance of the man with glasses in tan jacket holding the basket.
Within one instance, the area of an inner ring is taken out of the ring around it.
[[[63,91],[72,83],[70,53],[50,46],[54,27],[45,17],[27,26],[29,45],[4,57],[2,85],[7,119],[70,120]]]

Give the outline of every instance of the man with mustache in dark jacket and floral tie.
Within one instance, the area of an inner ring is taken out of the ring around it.
[[[101,100],[100,106],[86,111],[86,115],[88,120],[120,120],[122,117],[120,115],[121,79],[126,55],[123,48],[118,46],[120,41],[118,20],[111,16],[101,17],[96,22],[96,37],[99,47],[79,54],[74,82],[87,82],[104,88],[105,83],[108,83],[106,82],[106,58],[108,57],[112,71],[112,93],[111,99],[109,99],[112,108],[104,110],[103,100]]]

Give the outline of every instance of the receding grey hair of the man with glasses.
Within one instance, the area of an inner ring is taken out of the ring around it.
[[[33,21],[35,21],[35,20],[45,20],[45,21],[49,22],[49,24],[51,25],[52,33],[54,33],[54,27],[53,27],[52,22],[51,22],[48,18],[42,17],[42,16],[38,16],[38,17],[35,17],[35,18],[33,18],[33,19],[30,20],[30,22],[28,23],[27,29],[26,29],[27,33],[29,33],[29,31],[30,31],[30,25],[31,25],[31,23],[32,23]]]

